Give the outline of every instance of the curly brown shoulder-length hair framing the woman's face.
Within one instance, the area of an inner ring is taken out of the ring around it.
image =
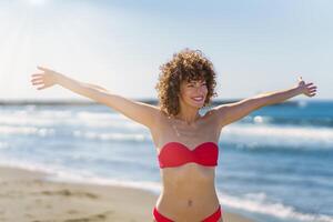
[[[180,112],[180,85],[182,81],[205,80],[208,94],[203,107],[211,103],[212,97],[216,97],[216,74],[213,64],[200,50],[188,48],[173,54],[167,63],[160,65],[161,73],[155,90],[159,94],[159,105],[168,115],[176,115]]]

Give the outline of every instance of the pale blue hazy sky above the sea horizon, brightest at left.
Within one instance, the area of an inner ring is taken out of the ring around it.
[[[199,49],[218,73],[216,99],[284,90],[297,77],[333,99],[331,0],[0,1],[0,100],[85,100],[37,90],[43,65],[132,99],[157,99],[160,65]]]

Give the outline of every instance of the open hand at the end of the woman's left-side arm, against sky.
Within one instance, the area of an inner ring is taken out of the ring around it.
[[[31,83],[33,85],[37,85],[38,90],[42,90],[49,87],[52,87],[53,84],[57,84],[57,72],[43,67],[37,67],[39,70],[41,70],[41,73],[33,73],[31,75]]]

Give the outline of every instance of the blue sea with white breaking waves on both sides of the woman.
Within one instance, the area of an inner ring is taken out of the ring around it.
[[[224,127],[219,147],[224,210],[258,222],[333,222],[333,101],[262,108]],[[161,191],[149,130],[100,104],[0,105],[0,164]]]

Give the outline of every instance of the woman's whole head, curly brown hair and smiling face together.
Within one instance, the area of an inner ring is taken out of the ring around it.
[[[160,70],[155,89],[159,93],[159,107],[167,115],[175,117],[180,114],[181,109],[183,109],[182,117],[191,112],[193,114],[193,111],[210,105],[211,99],[218,95],[215,92],[216,73],[213,64],[200,50],[186,48],[174,53],[170,61],[160,67]],[[195,80],[195,83],[182,84],[186,80]],[[206,85],[203,82],[198,83],[196,80],[205,80]],[[195,99],[202,95],[204,100]]]

